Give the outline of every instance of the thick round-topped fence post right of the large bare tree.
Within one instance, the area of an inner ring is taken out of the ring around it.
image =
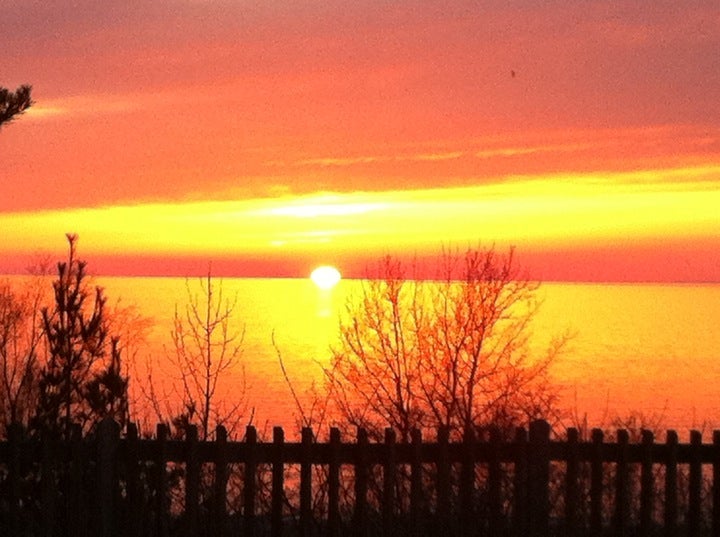
[[[543,420],[530,424],[528,485],[530,532],[537,537],[549,533],[550,425]]]

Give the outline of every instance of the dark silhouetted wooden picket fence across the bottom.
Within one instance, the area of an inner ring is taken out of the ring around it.
[[[441,430],[400,443],[390,429],[379,443],[337,429],[285,442],[280,428],[259,442],[253,427],[242,442],[222,428],[173,440],[163,425],[141,439],[110,420],[85,438],[8,433],[0,535],[720,536],[720,431],[709,444],[696,431],[688,444],[673,431],[553,440],[543,421],[461,442]]]

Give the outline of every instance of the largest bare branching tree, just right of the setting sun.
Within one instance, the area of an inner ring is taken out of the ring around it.
[[[433,281],[409,279],[385,258],[347,305],[325,371],[338,417],[378,439],[393,427],[406,442],[415,428],[460,437],[547,418],[557,401],[548,367],[567,336],[540,356],[530,352],[537,287],[512,250],[444,252]]]

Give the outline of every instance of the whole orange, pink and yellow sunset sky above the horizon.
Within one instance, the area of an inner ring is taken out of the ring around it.
[[[720,281],[720,3],[0,0],[0,273]]]

